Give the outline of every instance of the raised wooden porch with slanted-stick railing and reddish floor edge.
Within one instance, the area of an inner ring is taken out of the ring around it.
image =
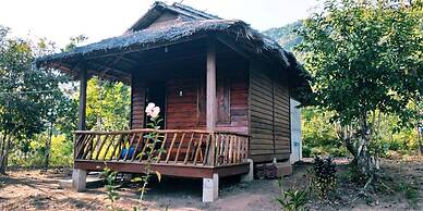
[[[162,175],[213,178],[249,172],[249,136],[229,132],[132,129],[122,132],[75,132],[74,169],[101,171],[105,165],[126,173],[144,173],[145,152],[161,137],[152,170]]]

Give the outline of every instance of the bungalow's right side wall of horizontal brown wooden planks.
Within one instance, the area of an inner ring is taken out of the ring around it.
[[[289,88],[264,64],[250,63],[250,154],[255,162],[285,160],[291,152]]]

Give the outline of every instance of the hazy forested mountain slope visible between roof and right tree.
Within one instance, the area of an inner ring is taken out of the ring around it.
[[[302,25],[302,21],[297,21],[282,27],[269,28],[263,33],[277,40],[285,50],[292,51],[293,47],[302,41],[302,38],[295,33]]]

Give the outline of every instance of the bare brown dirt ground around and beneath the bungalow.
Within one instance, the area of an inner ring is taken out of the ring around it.
[[[360,187],[348,181],[345,161],[338,160],[338,188],[328,199],[311,197],[310,210],[422,210],[423,161],[384,160],[386,177],[384,189],[370,189],[359,195]],[[310,163],[294,166],[294,174],[285,177],[286,187],[305,187],[309,184]],[[89,187],[86,193],[74,193],[59,186],[59,181],[70,178],[70,170],[12,171],[0,176],[0,210],[106,210],[104,187]],[[398,185],[401,184],[401,185]],[[201,202],[202,181],[164,178],[154,183],[146,200],[150,210],[280,210],[275,198],[280,190],[275,181],[255,179],[239,183],[238,177],[221,179],[219,199],[213,203]],[[126,185],[119,189],[120,208],[132,210],[137,204],[136,187]],[[415,190],[415,191],[414,191]]]

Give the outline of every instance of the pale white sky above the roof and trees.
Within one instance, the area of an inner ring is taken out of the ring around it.
[[[13,36],[47,38],[63,47],[71,37],[86,42],[121,35],[155,0],[0,0],[0,25]],[[165,1],[172,3],[173,1]],[[181,0],[177,0],[181,2]],[[183,0],[223,18],[245,21],[264,30],[307,17],[317,0]]]

